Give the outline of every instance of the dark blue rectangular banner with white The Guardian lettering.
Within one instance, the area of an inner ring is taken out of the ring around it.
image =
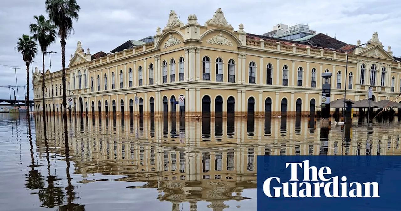
[[[401,156],[257,156],[258,211],[400,211]]]

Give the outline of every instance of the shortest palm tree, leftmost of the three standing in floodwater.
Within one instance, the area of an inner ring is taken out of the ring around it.
[[[36,56],[38,45],[36,45],[35,41],[32,40],[32,37],[29,37],[28,35],[18,37],[18,43],[16,43],[16,45],[16,49],[21,53],[22,59],[24,59],[26,65],[26,97],[29,99],[29,64]],[[25,99],[26,112],[29,115],[29,104],[26,102],[27,99]]]

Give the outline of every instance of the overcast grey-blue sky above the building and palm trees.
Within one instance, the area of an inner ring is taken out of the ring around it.
[[[77,0],[81,6],[79,20],[73,24],[75,34],[67,39],[66,65],[75,51],[77,41],[91,53],[108,52],[128,39],[138,40],[156,34],[167,23],[170,10],[187,23],[188,14],[196,14],[198,23],[204,24],[217,8],[222,8],[227,21],[238,29],[243,23],[245,32],[260,34],[271,30],[277,23],[308,24],[318,33],[327,33],[345,42],[356,44],[360,39],[368,41],[373,32],[387,49],[391,45],[395,56],[401,56],[400,0]],[[247,3],[248,2],[248,3]],[[249,3],[252,2],[252,3]],[[1,0],[0,2],[0,86],[16,86],[14,70],[17,69],[18,86],[26,85],[24,62],[15,49],[17,37],[29,34],[29,24],[34,15],[45,15],[45,0]],[[39,47],[38,47],[39,48]],[[61,69],[61,46],[59,39],[48,51],[52,55],[52,70]],[[34,67],[42,68],[40,48]],[[49,57],[46,57],[49,69]],[[30,80],[32,75],[30,75]],[[24,99],[24,88],[18,89]],[[0,99],[10,98],[7,88],[0,88]],[[32,99],[32,91],[30,94]]]

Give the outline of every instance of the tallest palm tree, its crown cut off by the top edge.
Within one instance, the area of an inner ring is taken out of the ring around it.
[[[62,81],[63,81],[63,118],[67,119],[67,95],[65,94],[65,45],[67,37],[73,33],[73,19],[78,20],[78,12],[81,7],[76,0],[46,0],[46,12],[49,18],[59,29],[59,37],[61,38],[61,63],[63,65]]]

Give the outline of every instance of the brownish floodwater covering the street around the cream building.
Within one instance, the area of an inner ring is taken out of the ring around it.
[[[0,209],[256,210],[257,155],[399,155],[400,133],[397,117],[73,117],[65,133],[0,114]]]

